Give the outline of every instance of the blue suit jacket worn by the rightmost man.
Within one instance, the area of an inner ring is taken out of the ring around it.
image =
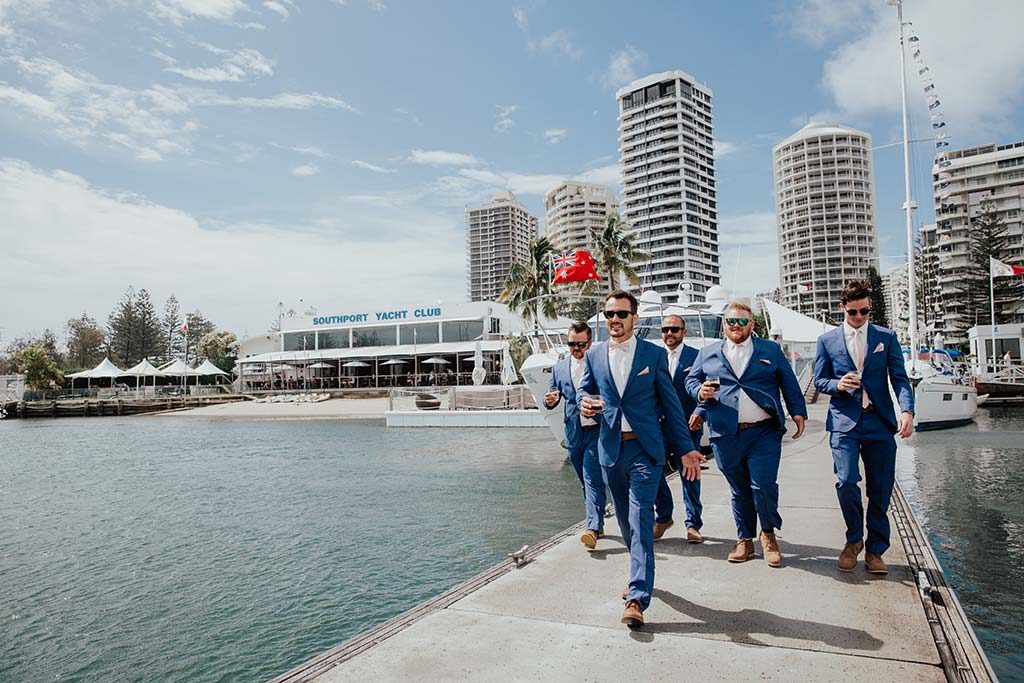
[[[889,382],[893,384],[900,411],[913,413],[913,387],[906,376],[899,339],[892,330],[868,323],[865,350],[861,385],[867,389],[867,395],[871,397],[879,417],[896,433],[899,422],[896,421],[896,410],[889,393]],[[821,393],[833,397],[828,401],[828,417],[825,419],[825,429],[828,431],[848,432],[860,422],[863,413],[862,390],[850,392],[839,388],[839,379],[855,370],[857,365],[846,348],[846,335],[842,325],[818,337],[814,357],[814,386]]]

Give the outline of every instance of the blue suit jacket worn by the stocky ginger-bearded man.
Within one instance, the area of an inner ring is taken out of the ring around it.
[[[736,377],[732,366],[725,357],[724,339],[700,349],[690,374],[686,377],[686,389],[694,400],[700,391],[700,385],[709,376],[718,376],[722,382],[718,397],[701,403],[712,438],[736,433],[739,424],[740,389],[775,419],[780,431],[785,431],[782,397],[785,399],[790,415],[807,417],[807,404],[800,391],[800,383],[793,374],[793,368],[790,367],[782,347],[759,337],[754,337],[752,341],[754,352],[742,377]]]

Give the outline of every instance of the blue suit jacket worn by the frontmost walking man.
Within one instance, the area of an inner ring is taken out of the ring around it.
[[[604,412],[595,417],[601,425],[597,453],[605,467],[618,462],[624,415],[640,445],[656,464],[665,463],[666,441],[673,453],[693,450],[683,407],[669,376],[669,354],[647,341],[638,339],[636,345],[633,367],[622,395],[608,365],[608,342],[596,344],[587,351],[577,398],[582,401],[588,394],[600,394],[604,399]],[[665,416],[664,435],[662,416]]]

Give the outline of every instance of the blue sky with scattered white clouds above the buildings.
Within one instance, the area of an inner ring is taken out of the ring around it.
[[[1020,139],[1024,3],[969,7],[906,0],[953,144]],[[0,331],[105,318],[128,285],[239,334],[279,301],[464,300],[464,207],[511,188],[543,219],[560,178],[616,184],[614,91],[673,69],[714,90],[723,284],[752,295],[777,282],[772,145],[812,118],[898,139],[895,30],[881,0],[0,0],[0,274],[26,285]],[[899,148],[874,162],[888,268]],[[916,145],[926,220],[930,165]]]

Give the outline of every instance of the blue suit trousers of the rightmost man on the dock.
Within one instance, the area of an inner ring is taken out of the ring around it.
[[[864,504],[860,496],[860,461],[864,461],[867,490],[867,543],[869,553],[889,549],[889,501],[896,480],[896,438],[877,413],[864,413],[848,432],[829,437],[836,470],[836,493],[846,521],[847,543],[864,539]]]

